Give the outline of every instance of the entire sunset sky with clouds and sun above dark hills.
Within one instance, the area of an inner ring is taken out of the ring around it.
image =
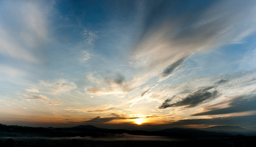
[[[0,0],[0,123],[256,130],[255,0]]]

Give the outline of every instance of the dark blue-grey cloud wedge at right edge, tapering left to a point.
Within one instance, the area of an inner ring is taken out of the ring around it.
[[[245,112],[256,110],[256,95],[240,95],[235,96],[229,104],[229,107],[218,109],[212,109],[210,111],[200,112],[191,116],[203,116],[203,115],[219,115],[229,114],[235,112]]]

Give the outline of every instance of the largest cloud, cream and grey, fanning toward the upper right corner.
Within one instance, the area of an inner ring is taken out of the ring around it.
[[[144,10],[142,31],[129,63],[145,62],[130,83],[143,85],[156,76],[160,76],[159,82],[165,80],[186,61],[189,54],[238,42],[256,31],[256,21],[251,19],[252,12],[255,13],[252,1],[247,5],[242,2],[216,2],[205,6],[205,9],[198,9],[198,5],[193,3],[182,5],[182,8],[186,7],[182,12],[178,9],[181,7],[179,4],[162,1]],[[244,33],[243,37],[236,38]]]

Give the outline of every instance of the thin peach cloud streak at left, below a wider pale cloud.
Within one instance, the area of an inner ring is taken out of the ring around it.
[[[28,100],[38,100],[47,105],[60,105],[61,104],[60,100],[51,100],[44,95],[36,95],[36,94],[26,93],[23,96],[26,97]]]

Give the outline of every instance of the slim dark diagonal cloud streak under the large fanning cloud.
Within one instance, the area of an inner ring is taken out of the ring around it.
[[[165,69],[165,71],[163,71],[163,73],[161,74],[161,77],[166,77],[166,76],[169,76],[170,74],[172,74],[172,72],[175,71],[175,69],[179,68],[181,66],[181,64],[183,62],[185,62],[188,58],[189,58],[189,55],[182,57],[178,61],[176,61],[173,64],[171,64],[170,66],[168,66]]]

